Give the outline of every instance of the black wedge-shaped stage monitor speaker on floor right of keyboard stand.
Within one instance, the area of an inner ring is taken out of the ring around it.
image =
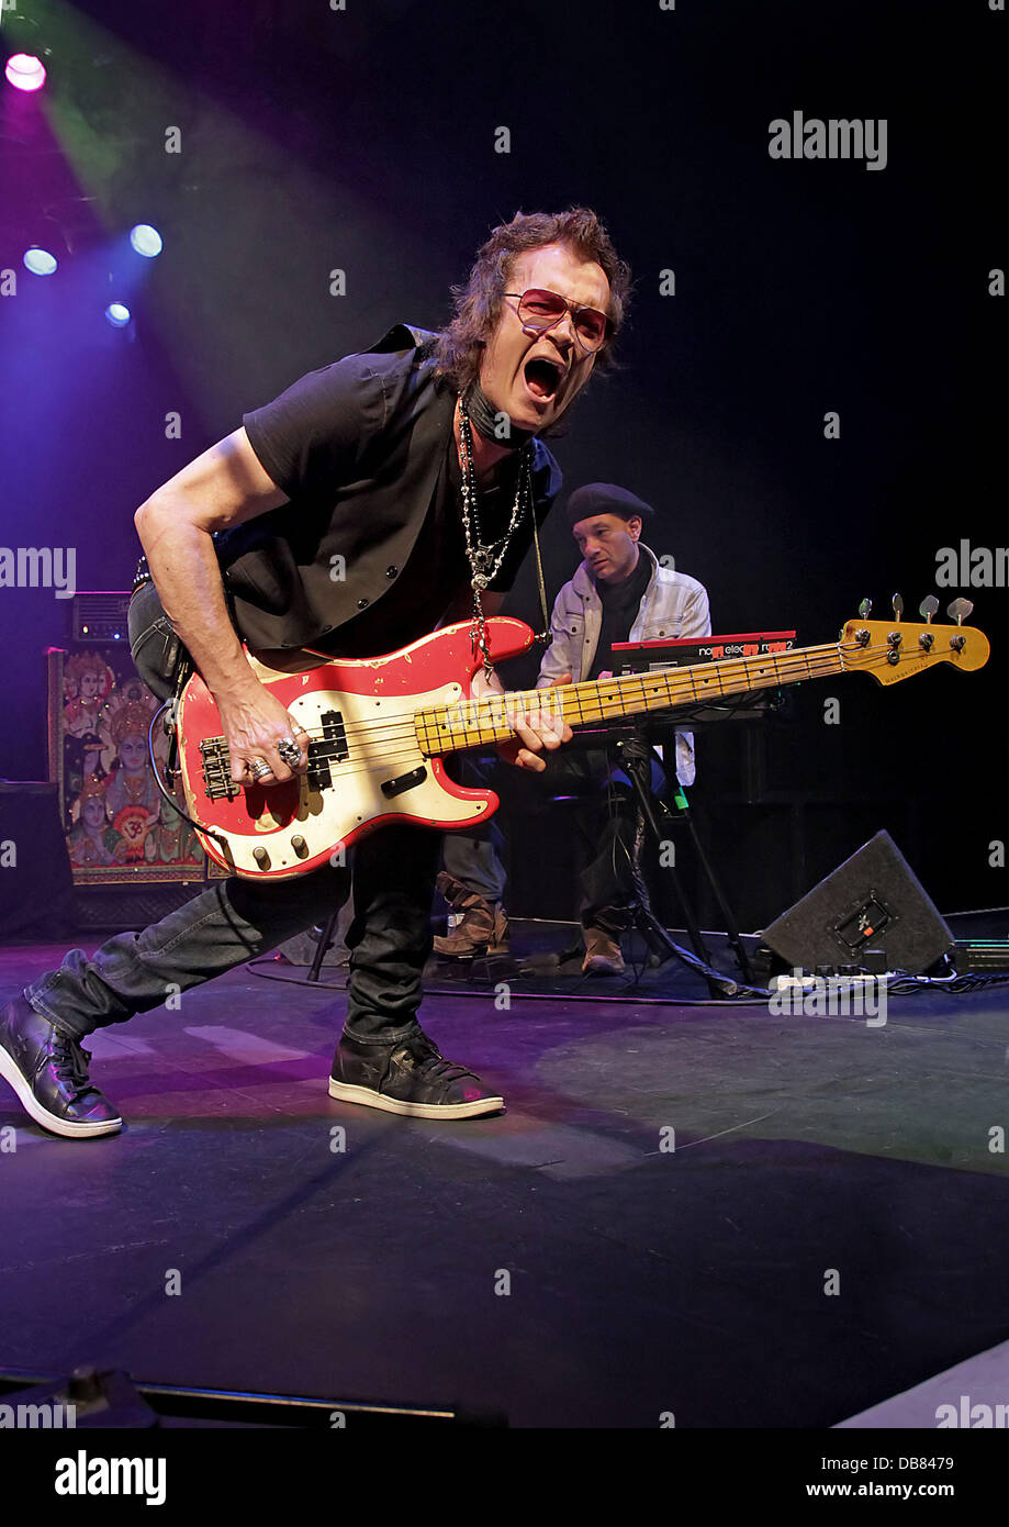
[[[882,950],[887,970],[920,974],[954,939],[888,832],[878,832],[783,912],[763,942],[792,968],[862,967]]]

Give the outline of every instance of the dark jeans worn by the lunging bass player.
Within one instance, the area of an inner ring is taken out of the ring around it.
[[[140,678],[165,698],[177,638],[153,585],[130,602],[130,651]],[[107,939],[92,959],[70,950],[24,996],[75,1035],[124,1023],[324,922],[353,889],[347,1032],[398,1041],[420,1032],[440,854],[441,834],[388,826],[354,846],[347,869],[278,883],[232,875],[142,933]]]

